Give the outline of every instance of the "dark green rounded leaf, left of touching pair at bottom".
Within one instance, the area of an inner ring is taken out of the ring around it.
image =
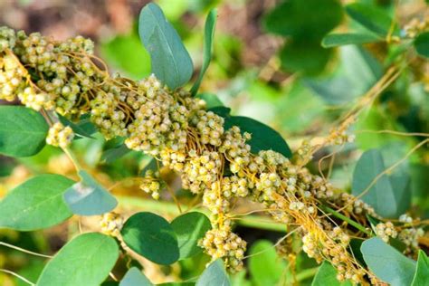
[[[120,233],[129,248],[151,262],[171,264],[179,258],[175,231],[159,215],[147,212],[132,215]]]

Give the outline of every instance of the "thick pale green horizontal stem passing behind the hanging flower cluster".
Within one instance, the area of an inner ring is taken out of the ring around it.
[[[124,208],[138,207],[148,211],[154,211],[162,214],[180,215],[176,204],[168,202],[160,202],[154,200],[142,199],[139,197],[128,195],[117,195],[119,205]],[[209,215],[209,212],[203,207],[195,208],[195,211]],[[271,220],[265,220],[258,215],[246,215],[243,218],[237,219],[236,223],[241,226],[254,227],[267,231],[286,233],[287,228],[285,224],[275,223]]]

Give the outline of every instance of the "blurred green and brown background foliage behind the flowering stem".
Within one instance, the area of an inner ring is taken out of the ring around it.
[[[303,140],[328,134],[336,119],[357,102],[384,74],[392,62],[403,64],[401,76],[384,91],[371,108],[360,115],[353,127],[355,143],[342,148],[323,148],[310,163],[317,173],[318,162],[335,151],[335,161],[321,164],[334,186],[350,191],[358,157],[371,148],[382,150],[386,167],[405,156],[423,138],[401,137],[367,130],[396,130],[429,133],[429,63],[417,58],[405,62],[398,58],[400,44],[381,42],[323,48],[322,38],[330,31],[363,31],[365,28],[347,16],[338,0],[159,0],[156,1],[176,27],[194,61],[195,70],[203,60],[205,14],[218,7],[214,58],[200,89],[204,97],[215,94],[235,115],[261,120],[281,132],[292,150]],[[404,27],[414,17],[427,17],[424,0],[360,0],[384,11]],[[145,0],[16,0],[0,1],[0,24],[26,32],[41,32],[62,40],[76,34],[91,37],[97,54],[111,72],[133,80],[148,76],[150,58],[138,38],[138,13]],[[403,61],[402,63],[400,61]],[[405,64],[406,63],[406,64]],[[195,72],[195,77],[197,72]],[[216,101],[219,104],[218,101]],[[4,104],[4,103],[3,103]],[[91,127],[88,125],[87,129]],[[95,138],[95,139],[93,139]],[[167,218],[176,215],[171,196],[153,202],[132,180],[148,163],[148,157],[123,148],[120,139],[104,142],[97,134],[73,143],[75,153],[94,176],[122,197],[125,214],[138,210],[157,212]],[[57,148],[23,159],[0,157],[0,197],[33,174],[59,173],[75,177],[71,162]],[[411,213],[429,217],[429,150],[417,150],[400,166],[405,174]],[[174,174],[164,172],[169,186],[176,189],[181,204],[194,200],[180,190]],[[237,213],[254,206],[238,205]],[[285,229],[267,222],[263,215],[239,222],[237,232],[249,242],[247,270],[233,277],[234,285],[291,284],[291,270],[274,251]],[[0,231],[0,241],[37,253],[54,253],[79,227],[97,228],[90,219],[62,224],[49,231],[18,233]],[[184,281],[199,275],[208,262],[204,254],[172,267],[143,263],[151,281]],[[130,263],[134,263],[130,261]],[[289,265],[291,266],[291,265]],[[310,284],[316,263],[305,255],[296,261],[296,281]],[[35,281],[43,259],[9,250],[0,245],[0,268],[10,269]],[[115,273],[121,277],[124,265]],[[23,285],[0,273],[1,285]]]

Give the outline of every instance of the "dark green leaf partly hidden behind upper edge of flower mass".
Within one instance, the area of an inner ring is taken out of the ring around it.
[[[262,150],[273,150],[281,153],[284,157],[291,157],[291,149],[279,132],[271,127],[243,116],[231,116],[225,119],[224,128],[230,129],[238,126],[242,132],[248,132],[252,138],[247,141],[251,146],[251,151],[258,154]]]

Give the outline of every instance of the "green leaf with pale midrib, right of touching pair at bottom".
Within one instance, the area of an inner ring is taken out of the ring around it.
[[[171,222],[177,236],[180,260],[202,252],[197,243],[211,226],[207,216],[198,212],[179,215]]]

